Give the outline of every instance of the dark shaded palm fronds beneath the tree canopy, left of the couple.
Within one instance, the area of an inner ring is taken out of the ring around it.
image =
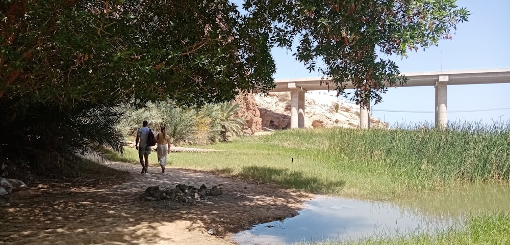
[[[9,116],[8,103],[0,105],[0,174],[70,176],[82,156],[100,154],[103,147],[122,152],[124,138],[117,130],[123,112],[118,106],[75,103],[54,106],[24,104]],[[12,141],[16,139],[16,141]]]

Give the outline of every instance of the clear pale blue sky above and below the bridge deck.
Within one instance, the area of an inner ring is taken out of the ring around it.
[[[243,2],[243,1],[233,1]],[[457,5],[471,10],[469,21],[457,25],[452,40],[423,51],[410,52],[409,58],[391,57],[401,72],[451,71],[510,68],[510,0],[457,0]],[[295,61],[292,51],[274,48],[275,79],[317,77]],[[451,85],[447,87],[448,121],[510,121],[510,84]],[[435,89],[433,87],[390,88],[383,101],[373,106],[373,117],[390,125],[395,123],[433,122]],[[377,110],[419,111],[430,113],[378,112]]]

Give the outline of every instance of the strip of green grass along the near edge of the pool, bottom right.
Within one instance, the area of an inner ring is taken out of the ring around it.
[[[371,237],[350,241],[322,241],[312,243],[295,243],[295,245],[471,245],[510,244],[510,215],[503,213],[487,213],[473,215],[464,228],[450,228],[436,235],[407,234],[398,237]]]

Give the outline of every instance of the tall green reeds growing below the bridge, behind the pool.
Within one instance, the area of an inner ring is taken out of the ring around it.
[[[399,125],[395,129],[287,130],[266,141],[331,165],[405,178],[420,188],[510,181],[510,124]],[[349,166],[345,166],[349,165]]]

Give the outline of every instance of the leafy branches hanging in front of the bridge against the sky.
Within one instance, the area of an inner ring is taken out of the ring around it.
[[[405,57],[451,39],[469,15],[455,0],[247,0],[244,7],[250,25],[279,46],[295,45],[295,58],[318,69],[323,83],[342,94],[352,82],[352,99],[363,105],[380,102],[388,86],[405,82],[395,63],[379,54]]]

